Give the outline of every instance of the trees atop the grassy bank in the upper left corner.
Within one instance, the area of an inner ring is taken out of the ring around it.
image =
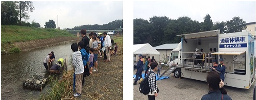
[[[31,23],[26,22],[30,19],[28,12],[33,12],[35,7],[32,1],[1,1],[1,25],[20,25],[39,28],[41,25],[33,20]],[[45,23],[45,28],[56,28],[53,20]]]

